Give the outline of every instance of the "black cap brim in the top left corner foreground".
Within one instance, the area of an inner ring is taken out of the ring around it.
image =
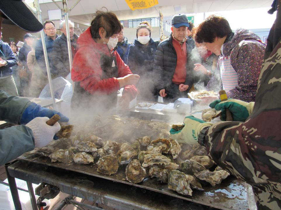
[[[43,29],[43,25],[25,6],[22,0],[0,0],[0,11],[25,31],[38,32]]]

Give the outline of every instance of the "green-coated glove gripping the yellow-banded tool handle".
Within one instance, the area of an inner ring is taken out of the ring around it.
[[[255,102],[247,103],[238,99],[228,99],[226,101],[215,100],[210,103],[211,108],[221,110],[221,120],[226,121],[226,109],[232,113],[233,121],[245,122],[253,112]]]

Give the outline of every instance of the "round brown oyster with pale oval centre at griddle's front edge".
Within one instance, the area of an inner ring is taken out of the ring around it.
[[[140,161],[137,159],[132,160],[127,165],[125,173],[126,180],[134,184],[142,182],[146,175],[145,168],[141,166]]]

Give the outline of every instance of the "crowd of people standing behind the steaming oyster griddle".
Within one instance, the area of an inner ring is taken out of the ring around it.
[[[140,76],[136,84],[129,84],[136,86],[134,88],[138,100],[157,101],[160,96],[164,102],[174,102],[177,98],[187,98],[187,93],[195,89],[198,91],[224,89],[229,98],[247,102],[255,100],[266,45],[253,32],[247,29],[233,32],[225,18],[215,15],[195,27],[185,14],[179,14],[172,18],[172,33],[168,39],[162,42],[153,40],[152,27],[148,22],[141,22],[136,28],[136,38],[131,43],[126,38],[119,20],[117,22],[114,20],[105,29],[106,38],[110,39],[110,43],[107,43],[108,50],[103,49],[106,52],[94,50],[97,51],[97,57],[94,59],[90,56],[93,50],[89,48],[96,48],[94,46],[98,40],[94,40],[95,43],[91,46],[91,39],[84,38],[87,34],[94,38],[93,27],[104,26],[105,23],[100,20],[96,25],[91,25],[79,38],[74,33],[74,23],[69,21],[72,59],[75,61],[71,77],[87,93],[93,95],[98,90],[98,94],[108,95],[111,91],[112,94],[117,94],[117,86],[113,91],[111,83],[99,82],[103,81],[101,78],[105,75],[102,77],[99,75],[96,80],[92,80],[86,74],[87,67],[93,75],[98,74],[99,70],[96,68],[106,68],[104,65],[109,61],[102,55],[103,53],[110,55],[110,59],[111,57],[117,59],[113,62],[118,63],[112,67],[118,69],[125,65],[129,73]],[[43,27],[52,79],[67,76],[70,78],[65,21],[60,22],[61,36],[56,33],[53,21],[46,20]],[[116,27],[118,31],[109,33],[112,32],[112,27]],[[101,36],[98,34],[96,38]],[[13,42],[6,44],[1,41],[2,45],[6,46],[5,49],[11,47],[3,51],[6,53],[4,56],[8,65],[0,67],[1,80],[4,81],[4,77],[7,77],[7,84],[2,82],[1,87],[5,84],[6,88],[3,88],[10,95],[39,97],[42,89],[48,84],[42,40],[30,33],[25,34],[23,39],[24,44],[20,49]],[[106,43],[104,38],[102,41],[102,44]],[[88,46],[88,49],[85,50],[85,46]],[[80,49],[84,49],[83,55],[77,55],[75,59],[75,54]],[[81,64],[81,60],[85,63]],[[89,60],[95,63],[91,62],[89,66]],[[78,76],[78,72],[81,71],[79,68],[83,69],[83,75]],[[107,76],[112,76],[110,78],[122,75],[114,74],[114,70],[109,72]],[[87,80],[91,81],[90,84],[87,84]],[[100,87],[100,83],[103,87]],[[110,91],[103,92],[100,88]],[[125,92],[126,90],[127,88]],[[217,96],[212,96],[203,99],[207,103],[216,98]]]

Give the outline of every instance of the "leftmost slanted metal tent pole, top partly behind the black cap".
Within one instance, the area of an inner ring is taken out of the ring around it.
[[[34,0],[33,5],[34,5],[34,7],[37,10],[37,18],[38,18],[39,22],[42,23],[40,6],[39,6],[39,0]],[[55,93],[54,93],[52,77],[51,77],[51,72],[50,72],[50,66],[49,66],[49,61],[48,61],[48,54],[47,54],[47,49],[46,49],[44,31],[41,30],[40,34],[41,34],[41,40],[42,40],[42,45],[43,45],[43,52],[44,52],[44,57],[45,57],[45,63],[46,63],[49,87],[50,87],[51,97],[52,97],[52,100],[53,100],[53,108],[56,110],[57,109],[57,105],[55,104]]]

